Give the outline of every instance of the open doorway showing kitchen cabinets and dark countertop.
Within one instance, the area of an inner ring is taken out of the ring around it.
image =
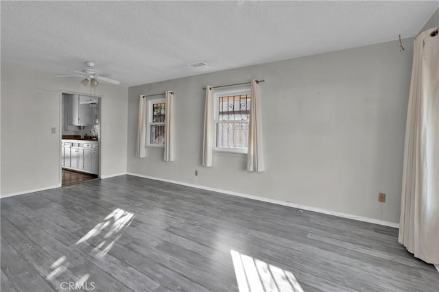
[[[101,97],[61,93],[62,186],[99,179]]]

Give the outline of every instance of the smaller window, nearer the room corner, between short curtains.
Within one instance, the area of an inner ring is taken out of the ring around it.
[[[165,99],[148,100],[148,146],[165,145]]]

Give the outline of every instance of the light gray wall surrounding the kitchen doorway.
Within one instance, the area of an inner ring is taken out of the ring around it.
[[[80,79],[1,64],[1,196],[61,184],[60,90],[87,94]],[[103,96],[101,175],[125,173],[128,88],[101,82],[96,94]]]

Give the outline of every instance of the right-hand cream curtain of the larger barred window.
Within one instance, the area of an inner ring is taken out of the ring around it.
[[[265,170],[262,138],[262,93],[257,80],[252,80],[252,102],[250,104],[250,125],[248,129],[247,170]]]

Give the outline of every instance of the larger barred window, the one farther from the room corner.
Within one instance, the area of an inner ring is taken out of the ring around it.
[[[250,88],[215,93],[214,150],[247,152],[250,97]]]

